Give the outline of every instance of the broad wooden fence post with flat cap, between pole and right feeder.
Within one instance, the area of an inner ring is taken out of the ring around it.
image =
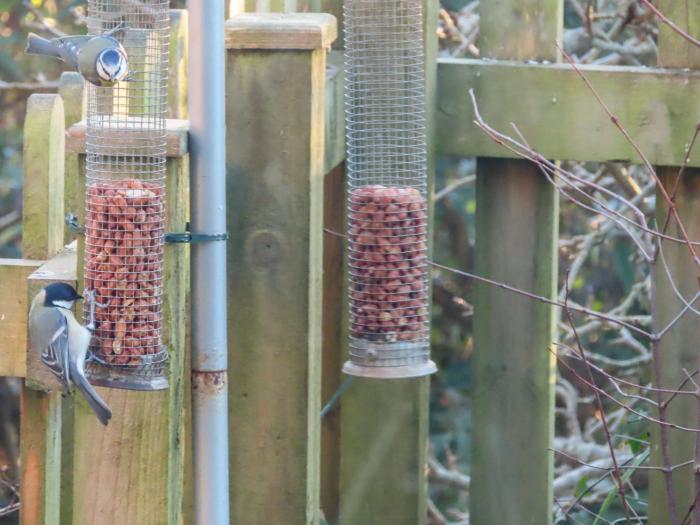
[[[226,24],[231,523],[318,523],[330,15]]]

